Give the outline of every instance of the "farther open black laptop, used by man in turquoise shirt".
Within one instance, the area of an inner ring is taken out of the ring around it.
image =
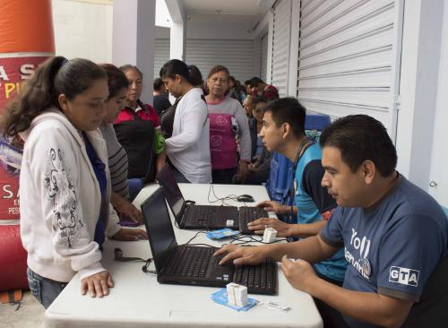
[[[268,217],[260,207],[242,206],[238,209],[236,206],[196,205],[185,201],[169,165],[159,171],[157,180],[180,229],[229,228],[253,234],[254,231],[247,229],[247,223]]]

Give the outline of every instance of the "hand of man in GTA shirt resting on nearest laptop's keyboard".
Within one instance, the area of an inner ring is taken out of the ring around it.
[[[214,256],[224,255],[220,260],[220,265],[233,260],[235,265],[258,264],[266,258],[264,246],[241,247],[236,245],[226,245],[215,252]]]

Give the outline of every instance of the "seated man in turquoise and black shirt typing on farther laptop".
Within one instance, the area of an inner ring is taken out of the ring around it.
[[[249,229],[258,233],[268,227],[278,229],[280,237],[308,237],[316,235],[325,224],[323,213],[327,217],[337,206],[326,188],[321,186],[323,167],[322,151],[319,144],[309,140],[305,134],[306,109],[297,99],[283,98],[273,100],[263,108],[263,127],[260,136],[269,151],[278,151],[294,162],[295,203],[293,215],[297,216],[299,224],[287,224],[277,219],[259,219],[249,224]],[[275,202],[261,204],[268,211],[285,210],[289,214],[291,206],[281,206]],[[291,213],[292,214],[292,213]],[[290,229],[285,228],[290,227]],[[342,286],[347,261],[343,249],[322,263],[315,263],[314,269],[321,278]],[[328,306],[316,302],[321,313],[329,311]]]

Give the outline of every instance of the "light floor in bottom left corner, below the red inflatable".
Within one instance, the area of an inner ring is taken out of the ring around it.
[[[27,290],[21,305],[0,304],[0,328],[43,328],[45,309]]]

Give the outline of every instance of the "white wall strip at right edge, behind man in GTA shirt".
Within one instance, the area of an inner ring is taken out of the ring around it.
[[[439,78],[435,105],[435,124],[432,145],[431,171],[429,180],[431,184],[429,193],[435,199],[448,207],[448,147],[444,143],[446,127],[448,125],[448,0],[444,0],[444,26],[440,49]]]

